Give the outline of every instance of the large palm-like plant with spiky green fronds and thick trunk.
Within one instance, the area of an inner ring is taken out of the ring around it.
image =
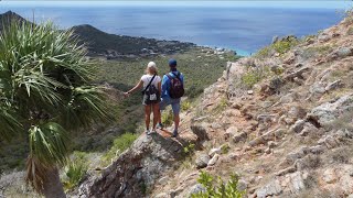
[[[57,169],[69,132],[110,118],[85,55],[72,31],[52,23],[13,21],[0,35],[0,139],[29,135],[26,179],[46,197],[65,197]]]

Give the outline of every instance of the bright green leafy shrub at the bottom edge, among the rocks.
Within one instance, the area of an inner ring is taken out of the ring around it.
[[[197,182],[205,188],[204,191],[192,194],[192,198],[242,198],[245,191],[237,190],[238,176],[231,175],[227,183],[221,177],[215,182],[214,177],[206,172],[202,172]]]

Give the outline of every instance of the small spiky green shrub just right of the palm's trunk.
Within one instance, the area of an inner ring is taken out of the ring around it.
[[[81,180],[85,177],[88,166],[86,165],[86,154],[75,152],[73,160],[64,168],[64,178],[62,179],[64,188],[71,190],[79,185]]]

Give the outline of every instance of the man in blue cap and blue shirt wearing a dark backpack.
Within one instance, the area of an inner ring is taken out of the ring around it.
[[[173,138],[178,136],[178,128],[180,122],[180,100],[184,95],[184,76],[176,69],[176,61],[169,61],[170,73],[165,74],[162,79],[162,95],[160,110],[164,110],[167,106],[172,106],[174,116]],[[160,113],[161,116],[161,113]],[[163,129],[161,117],[159,117],[159,129]]]

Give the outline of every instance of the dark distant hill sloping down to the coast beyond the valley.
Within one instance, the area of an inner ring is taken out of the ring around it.
[[[89,56],[106,56],[109,59],[174,54],[195,46],[192,43],[178,41],[108,34],[88,24],[73,26],[72,29],[88,46]]]

